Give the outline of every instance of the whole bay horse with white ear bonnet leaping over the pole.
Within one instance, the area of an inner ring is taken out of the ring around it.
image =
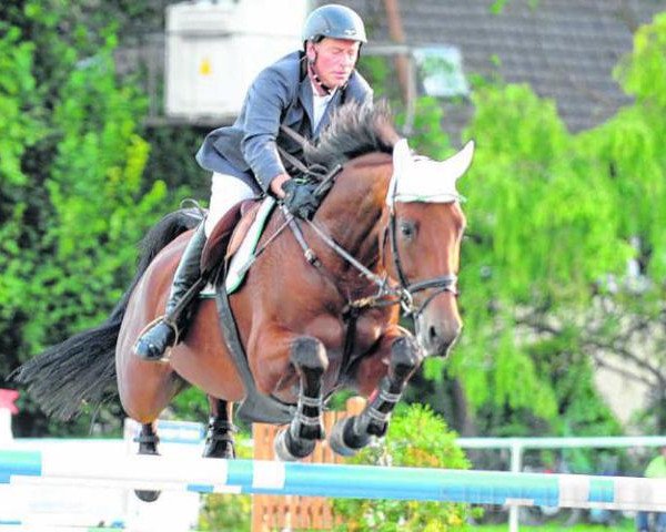
[[[386,105],[346,104],[305,153],[312,165],[341,170],[329,174],[330,191],[312,221],[273,211],[261,255],[228,298],[235,327],[221,327],[215,303],[202,299],[167,360],[132,354],[140,332],[163,313],[200,222],[181,209],[147,235],[137,276],[109,319],[28,361],[16,378],[64,419],[117,391],[142,424],[140,453],[158,452],[155,419],[195,386],[211,405],[204,456],[232,458],[232,406],[253,396],[259,408],[249,409],[250,421],[289,422],[275,443],[282,460],[312,452],[324,438],[326,398],[347,388],[369,401],[335,426],[330,444],[352,454],[385,433],[424,356],[446,355],[461,331],[456,276],[465,216],[455,184],[472,152],[468,143],[443,162],[414,157]],[[287,225],[293,231],[281,231]],[[216,285],[224,289],[223,279]],[[398,325],[401,307],[415,336]],[[231,352],[234,328],[245,370]]]

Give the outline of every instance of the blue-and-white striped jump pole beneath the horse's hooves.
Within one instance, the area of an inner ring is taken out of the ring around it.
[[[666,479],[0,450],[0,483],[666,511]]]

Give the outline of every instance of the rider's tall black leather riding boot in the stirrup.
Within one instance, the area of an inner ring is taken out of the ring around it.
[[[173,277],[164,316],[134,344],[134,354],[143,360],[162,360],[167,349],[176,344],[188,325],[190,304],[199,295],[199,290],[191,288],[201,279],[201,253],[206,241],[203,226],[203,223],[199,225],[183,252]]]

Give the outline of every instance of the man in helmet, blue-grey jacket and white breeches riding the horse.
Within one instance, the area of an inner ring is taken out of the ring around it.
[[[280,126],[316,140],[334,109],[351,100],[372,101],[372,89],[355,70],[361,45],[366,42],[363,21],[355,11],[339,4],[315,9],[305,20],[302,40],[303,50],[285,55],[256,76],[235,123],[212,131],[199,150],[198,163],[213,172],[208,217],[183,252],[164,316],[134,345],[140,358],[161,360],[176,342],[186,326],[183,307],[190,301],[183,296],[195,296],[188,290],[201,276],[199,264],[206,238],[233,205],[262,193],[278,198],[286,194],[287,208],[296,213],[313,201],[290,182],[278,146],[299,160],[303,152]]]

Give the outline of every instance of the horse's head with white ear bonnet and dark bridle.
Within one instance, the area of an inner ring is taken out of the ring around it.
[[[445,161],[413,157],[404,139],[393,149],[387,268],[404,289],[427,355],[445,356],[463,326],[456,298],[465,215],[456,182],[473,153],[473,142]]]

